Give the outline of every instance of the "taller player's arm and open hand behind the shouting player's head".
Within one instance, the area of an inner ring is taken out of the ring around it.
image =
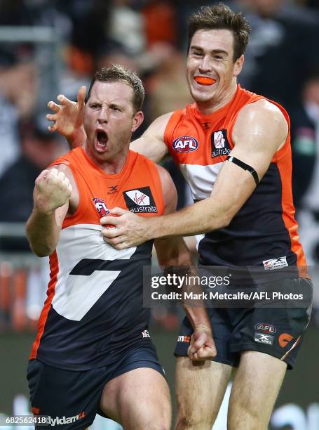
[[[48,121],[53,121],[53,124],[48,126],[48,130],[57,131],[65,136],[70,149],[81,145],[86,139],[86,133],[83,129],[85,98],[86,87],[81,86],[76,102],[60,94],[57,96],[60,105],[53,101],[48,103],[48,107],[53,110],[52,114],[46,115]],[[160,162],[168,153],[168,148],[164,142],[164,133],[171,116],[172,112],[155,119],[140,138],[130,143],[130,149],[140,152],[156,163]]]

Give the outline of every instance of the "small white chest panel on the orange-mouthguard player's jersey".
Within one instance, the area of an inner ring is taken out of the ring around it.
[[[217,174],[222,167],[222,162],[202,166],[201,164],[179,164],[186,182],[191,188],[194,200],[203,200],[210,197],[212,187],[215,184]]]

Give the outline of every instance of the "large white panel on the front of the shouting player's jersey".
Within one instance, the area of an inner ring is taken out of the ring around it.
[[[79,321],[92,308],[120,271],[95,271],[91,275],[69,275],[82,259],[128,260],[136,247],[120,251],[104,242],[102,226],[80,224],[61,230],[57,245],[59,273],[52,306],[69,320]]]

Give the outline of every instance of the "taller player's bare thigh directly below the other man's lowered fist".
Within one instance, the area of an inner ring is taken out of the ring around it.
[[[177,429],[211,429],[232,370],[210,360],[194,365],[188,357],[177,358]]]

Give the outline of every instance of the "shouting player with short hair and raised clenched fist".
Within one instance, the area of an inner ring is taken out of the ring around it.
[[[113,66],[95,74],[84,114],[86,140],[36,179],[27,236],[50,255],[48,298],[28,367],[32,410],[50,425],[84,429],[96,413],[124,429],[170,429],[170,394],[148,332],[143,266],[152,241],[118,251],[104,241],[109,207],[149,218],[176,209],[165,169],[129,150],[142,123],[142,82]],[[182,239],[156,241],[163,266],[190,266]],[[213,358],[204,308],[188,308],[194,324],[190,356]]]

